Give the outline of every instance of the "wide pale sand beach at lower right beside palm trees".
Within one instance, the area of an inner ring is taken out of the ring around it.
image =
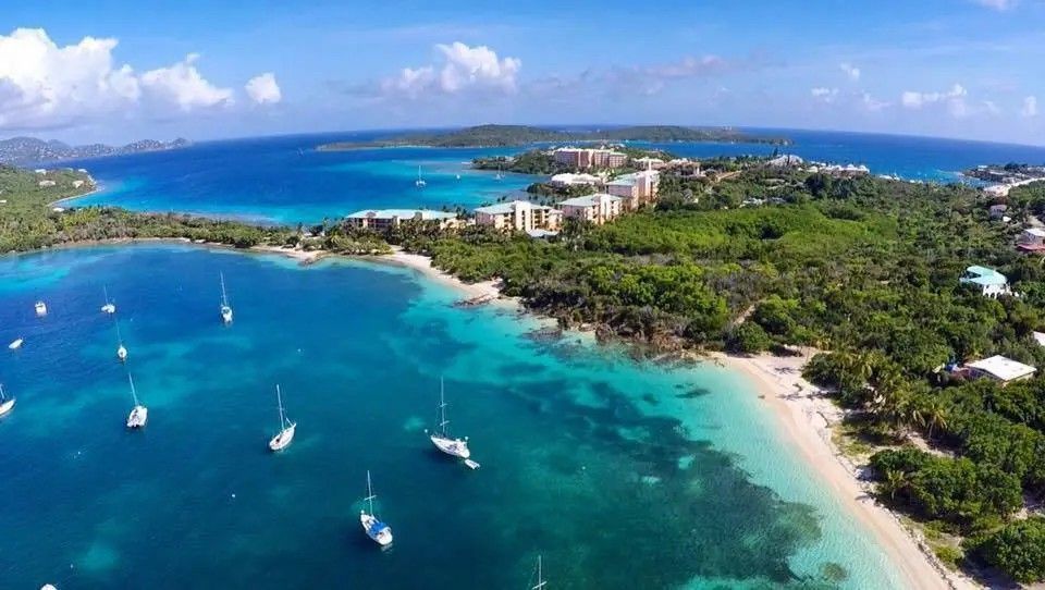
[[[911,588],[981,588],[972,579],[944,567],[915,531],[874,501],[872,485],[860,479],[859,468],[841,454],[832,439],[832,426],[841,421],[841,410],[801,377],[806,357],[715,355],[715,358],[751,379],[796,450],[849,513],[875,536]]]

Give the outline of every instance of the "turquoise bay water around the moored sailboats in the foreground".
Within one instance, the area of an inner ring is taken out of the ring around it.
[[[551,588],[900,586],[741,378],[537,342],[458,296],[189,246],[0,258],[0,342],[25,337],[0,355],[0,586],[526,588],[538,554]],[[477,471],[425,437],[440,376]],[[275,383],[298,422],[280,455]],[[367,469],[384,552],[359,527]]]

